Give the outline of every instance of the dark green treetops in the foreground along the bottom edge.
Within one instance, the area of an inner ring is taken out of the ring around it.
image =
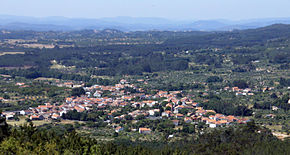
[[[0,151],[3,154],[287,154],[289,139],[275,138],[253,122],[239,127],[215,129],[198,139],[174,143],[131,141],[99,142],[81,137],[75,131],[57,134],[33,124],[9,129],[0,123]]]

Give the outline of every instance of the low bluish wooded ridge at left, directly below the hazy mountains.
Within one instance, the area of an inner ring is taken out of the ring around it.
[[[116,38],[135,38],[135,39],[158,39],[166,40],[172,37],[200,36],[213,32],[202,31],[134,31],[123,32],[116,29],[104,30],[79,30],[79,31],[27,31],[27,30],[1,30],[0,39],[116,39]]]

